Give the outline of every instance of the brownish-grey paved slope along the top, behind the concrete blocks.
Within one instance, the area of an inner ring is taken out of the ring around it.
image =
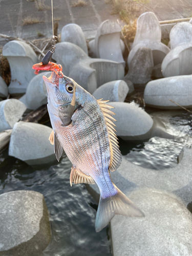
[[[105,0],[86,0],[84,7],[72,7],[70,0],[54,0],[54,16],[59,20],[58,32],[69,23],[79,25],[86,38],[94,38],[98,26],[106,19],[116,20],[118,15],[111,15],[112,8],[105,4]],[[37,11],[35,2],[27,0],[0,0],[0,17],[4,22],[0,31],[10,36],[34,38],[40,32],[46,36],[52,35],[51,3],[44,1],[43,11]],[[147,5],[145,11],[152,11],[159,20],[190,17],[192,2],[190,0],[153,0]],[[144,12],[144,11],[143,11]],[[23,26],[22,20],[27,17],[36,17],[44,23]],[[171,25],[173,26],[173,25]],[[166,31],[167,26],[161,26]],[[170,26],[168,26],[170,27]],[[1,44],[5,44],[6,40]]]

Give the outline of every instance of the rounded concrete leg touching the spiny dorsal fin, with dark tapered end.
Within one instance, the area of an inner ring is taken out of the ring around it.
[[[112,111],[116,114],[114,118],[117,136],[123,140],[145,140],[154,136],[174,139],[174,135],[166,132],[163,123],[158,119],[152,119],[144,110],[134,103],[108,102],[113,106]]]

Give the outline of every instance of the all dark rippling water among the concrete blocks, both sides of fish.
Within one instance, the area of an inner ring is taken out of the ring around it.
[[[174,167],[183,146],[191,145],[191,113],[156,112],[175,140],[151,138],[125,142],[120,150],[127,160],[146,168]],[[176,115],[176,116],[175,116]],[[0,154],[0,194],[12,190],[35,190],[45,196],[50,212],[52,239],[42,256],[112,255],[109,225],[99,233],[94,223],[97,203],[84,184],[70,186],[71,163],[62,158],[54,165],[31,167],[25,162]]]

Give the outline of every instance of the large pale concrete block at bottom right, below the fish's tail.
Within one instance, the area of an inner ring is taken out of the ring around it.
[[[128,196],[145,217],[118,215],[112,219],[114,256],[191,255],[192,215],[179,198],[154,188],[137,190]]]

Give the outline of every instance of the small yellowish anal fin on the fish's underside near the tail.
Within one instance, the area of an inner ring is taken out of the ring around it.
[[[76,169],[74,166],[71,167],[71,174],[70,174],[70,184],[71,184],[71,186],[72,186],[72,182],[74,182],[74,184],[77,184],[77,183],[95,184],[95,182],[91,178],[91,176],[83,174],[81,172],[81,170]]]

